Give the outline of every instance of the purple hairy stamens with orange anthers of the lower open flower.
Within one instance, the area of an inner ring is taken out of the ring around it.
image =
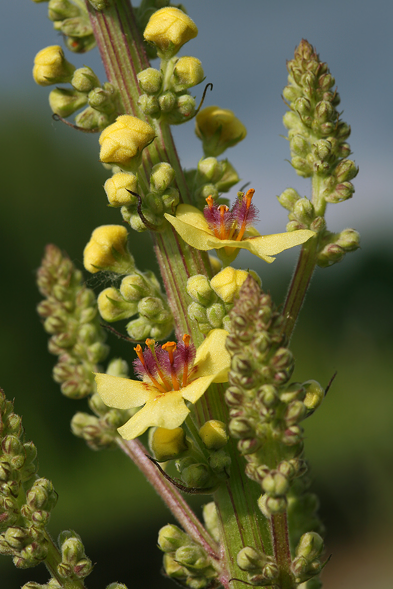
[[[134,370],[142,380],[150,380],[160,393],[179,391],[189,381],[196,354],[190,339],[186,333],[181,342],[159,346],[148,338],[144,350],[139,344],[134,348],[138,356],[134,360]]]

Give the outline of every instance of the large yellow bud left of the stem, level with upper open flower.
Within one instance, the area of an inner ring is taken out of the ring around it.
[[[94,229],[83,252],[88,272],[111,270],[125,274],[134,269],[134,259],[127,251],[127,229],[123,225],[101,225]]]

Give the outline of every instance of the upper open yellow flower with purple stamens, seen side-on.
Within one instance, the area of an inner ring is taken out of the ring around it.
[[[213,250],[224,264],[232,262],[240,249],[260,257],[265,262],[273,262],[275,254],[290,247],[304,243],[314,236],[314,231],[299,229],[288,233],[260,235],[250,223],[256,219],[257,210],[251,200],[255,190],[239,193],[232,210],[224,204],[214,205],[213,198],[206,198],[204,211],[190,204],[180,204],[176,217],[165,214],[180,237],[197,250]]]

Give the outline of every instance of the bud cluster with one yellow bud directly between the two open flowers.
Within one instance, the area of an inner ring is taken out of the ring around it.
[[[259,276],[250,272],[260,284]],[[210,329],[222,328],[229,331],[233,300],[239,296],[239,290],[245,282],[248,272],[235,270],[227,266],[209,280],[203,274],[191,276],[187,281],[187,294],[193,300],[188,307],[190,319],[194,319],[202,333]]]

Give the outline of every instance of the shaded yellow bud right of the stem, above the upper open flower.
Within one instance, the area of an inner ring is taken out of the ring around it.
[[[232,111],[216,106],[203,108],[195,118],[195,133],[206,157],[216,157],[246,137],[245,125]]]

